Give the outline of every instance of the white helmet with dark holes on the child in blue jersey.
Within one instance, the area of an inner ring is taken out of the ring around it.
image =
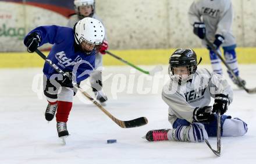
[[[103,24],[94,18],[85,17],[74,26],[74,39],[76,43],[81,45],[94,45],[95,50],[101,47],[105,37],[105,28]]]

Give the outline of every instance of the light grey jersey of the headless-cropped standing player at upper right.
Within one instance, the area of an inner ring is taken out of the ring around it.
[[[232,35],[233,8],[230,0],[195,0],[189,9],[189,22],[204,22],[206,36],[215,40],[215,34],[225,37],[223,47],[236,44]],[[205,42],[203,42],[205,44]]]

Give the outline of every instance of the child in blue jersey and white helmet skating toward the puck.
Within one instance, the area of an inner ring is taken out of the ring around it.
[[[95,54],[101,48],[104,36],[102,23],[86,17],[77,22],[74,29],[60,26],[37,27],[24,38],[24,44],[29,52],[34,52],[45,43],[54,44],[47,59],[80,84],[93,71]],[[48,101],[45,119],[51,121],[56,112],[58,136],[66,137],[69,135],[67,118],[76,90],[68,77],[62,77],[46,62],[43,72],[44,94]]]

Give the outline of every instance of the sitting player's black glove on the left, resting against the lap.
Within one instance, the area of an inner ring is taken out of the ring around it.
[[[197,107],[193,112],[193,119],[196,122],[207,123],[214,120],[214,114],[212,113],[212,106]]]

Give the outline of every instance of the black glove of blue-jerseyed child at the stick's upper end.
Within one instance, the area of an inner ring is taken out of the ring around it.
[[[38,33],[31,33],[27,35],[27,37],[24,40],[24,44],[27,47],[27,51],[30,53],[35,52],[35,50],[39,47],[40,42],[41,39]]]

